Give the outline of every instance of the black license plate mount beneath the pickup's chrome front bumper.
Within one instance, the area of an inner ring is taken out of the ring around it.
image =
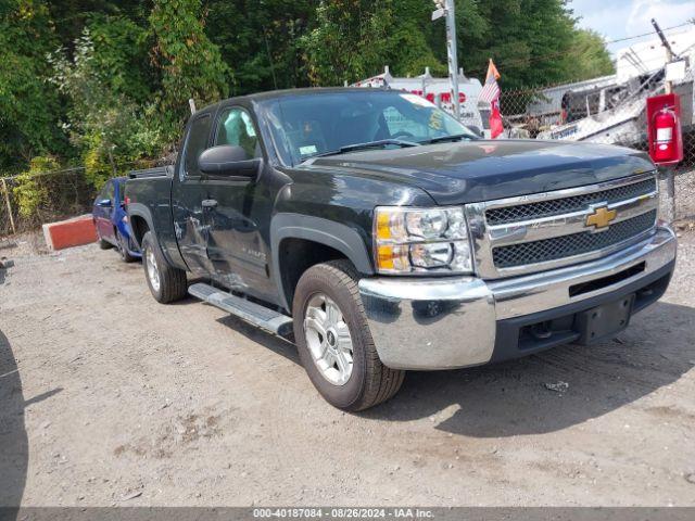
[[[630,325],[634,293],[577,314],[574,330],[580,344],[593,344],[614,336]]]

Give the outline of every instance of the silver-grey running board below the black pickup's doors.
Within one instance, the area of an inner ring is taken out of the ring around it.
[[[203,283],[191,284],[188,288],[188,292],[207,304],[224,309],[271,333],[286,336],[292,332],[292,317],[282,315],[261,304],[247,301],[245,298]]]

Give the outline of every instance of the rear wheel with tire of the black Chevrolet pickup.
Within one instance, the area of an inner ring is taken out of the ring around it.
[[[166,262],[151,231],[142,238],[142,267],[150,292],[156,302],[168,304],[186,296],[188,292],[186,271]],[[152,270],[152,267],[155,269]]]

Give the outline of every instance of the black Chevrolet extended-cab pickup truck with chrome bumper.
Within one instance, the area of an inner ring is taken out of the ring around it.
[[[176,165],[131,173],[126,201],[159,302],[188,292],[293,332],[316,389],[346,410],[393,396],[407,369],[610,338],[675,259],[644,153],[481,140],[388,90],[208,106]]]

